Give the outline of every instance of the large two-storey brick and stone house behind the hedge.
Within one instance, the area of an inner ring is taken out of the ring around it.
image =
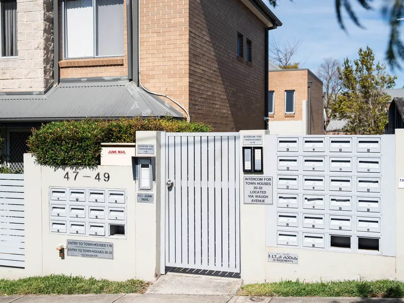
[[[217,131],[265,128],[268,33],[282,23],[263,0],[2,0],[0,10],[0,125],[15,168],[30,129],[49,121],[185,109]]]

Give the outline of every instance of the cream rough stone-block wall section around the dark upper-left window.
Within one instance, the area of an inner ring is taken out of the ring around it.
[[[17,0],[18,58],[0,58],[0,91],[43,91],[53,83],[52,0]]]

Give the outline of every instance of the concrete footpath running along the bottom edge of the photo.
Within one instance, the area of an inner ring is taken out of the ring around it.
[[[404,303],[389,298],[248,297],[179,294],[81,294],[0,296],[0,303]]]

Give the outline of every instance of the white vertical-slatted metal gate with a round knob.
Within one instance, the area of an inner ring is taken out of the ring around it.
[[[167,133],[165,144],[165,265],[239,273],[239,134]]]

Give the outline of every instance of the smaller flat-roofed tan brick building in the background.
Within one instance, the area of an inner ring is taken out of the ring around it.
[[[273,133],[323,134],[323,82],[309,69],[269,71],[268,128]]]

